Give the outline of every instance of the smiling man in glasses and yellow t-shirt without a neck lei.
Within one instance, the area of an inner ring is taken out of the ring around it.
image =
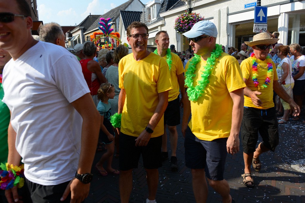
[[[132,169],[138,168],[142,154],[149,183],[146,203],[153,203],[156,202],[158,167],[162,166],[163,113],[168,91],[172,89],[170,72],[162,57],[147,51],[148,28],[144,23],[131,23],[127,36],[132,53],[119,62],[120,197],[122,203],[129,202]]]

